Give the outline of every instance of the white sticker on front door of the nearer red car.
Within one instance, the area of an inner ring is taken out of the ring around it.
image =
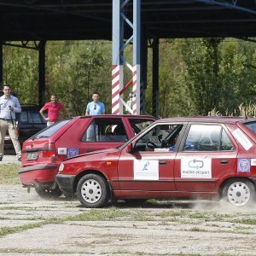
[[[134,160],[133,174],[138,180],[159,180],[159,161]]]

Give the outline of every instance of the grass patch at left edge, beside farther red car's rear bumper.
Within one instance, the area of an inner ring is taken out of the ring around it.
[[[19,164],[0,165],[0,184],[20,184],[18,169],[20,169]]]

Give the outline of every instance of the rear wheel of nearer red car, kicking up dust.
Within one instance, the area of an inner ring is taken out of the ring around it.
[[[255,202],[255,186],[247,178],[232,178],[224,185],[222,196],[232,206],[250,206]]]

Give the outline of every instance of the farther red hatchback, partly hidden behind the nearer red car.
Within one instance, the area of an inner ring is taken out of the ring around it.
[[[110,114],[63,119],[23,143],[20,181],[38,195],[60,196],[55,175],[61,160],[123,145],[154,121],[152,116]]]

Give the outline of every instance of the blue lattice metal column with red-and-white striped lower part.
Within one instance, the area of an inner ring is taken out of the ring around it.
[[[125,16],[130,0],[113,0],[113,34],[112,34],[112,113],[123,113],[123,107],[133,114],[140,113],[140,16],[141,0],[133,0],[133,23]],[[132,34],[124,42],[124,25],[130,26]],[[125,60],[124,50],[133,41],[133,65]],[[132,79],[124,86],[123,64],[131,71]],[[124,102],[123,93],[131,84],[130,98],[132,108]]]

